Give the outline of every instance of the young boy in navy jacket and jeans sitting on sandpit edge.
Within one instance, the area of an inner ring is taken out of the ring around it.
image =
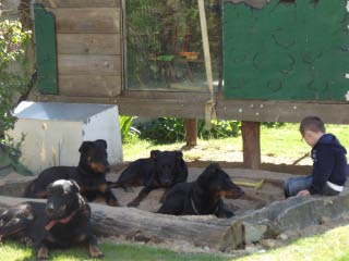
[[[342,191],[347,179],[347,150],[317,116],[302,120],[299,130],[312,147],[313,171],[310,176],[291,177],[284,184],[285,197],[324,195],[335,196]]]

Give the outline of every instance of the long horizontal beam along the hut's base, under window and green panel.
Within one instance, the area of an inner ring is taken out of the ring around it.
[[[122,94],[123,95],[123,94]],[[186,99],[92,99],[81,97],[41,96],[35,100],[60,102],[104,102],[116,103],[120,114],[139,116],[204,117],[204,101],[193,98],[196,94],[188,92]],[[190,99],[192,98],[192,99]],[[220,120],[241,120],[250,122],[296,122],[306,115],[318,115],[326,123],[349,124],[349,104],[280,102],[263,100],[217,100],[217,117]]]

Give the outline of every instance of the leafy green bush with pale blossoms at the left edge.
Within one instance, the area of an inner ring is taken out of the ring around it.
[[[16,119],[12,110],[29,83],[25,54],[29,40],[31,32],[23,32],[20,22],[0,22],[0,171],[13,167],[22,174],[29,174],[19,163],[24,137],[14,142],[5,130],[13,128]]]

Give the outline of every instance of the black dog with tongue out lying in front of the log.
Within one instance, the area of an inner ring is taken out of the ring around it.
[[[88,244],[92,258],[103,258],[92,233],[91,209],[74,181],[56,181],[47,188],[47,203],[24,202],[0,213],[0,239],[25,240],[37,249],[37,260],[49,248]]]

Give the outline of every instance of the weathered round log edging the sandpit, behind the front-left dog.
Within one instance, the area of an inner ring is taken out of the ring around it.
[[[27,198],[13,198],[0,196],[0,210]],[[45,202],[46,200],[29,201]],[[97,235],[125,236],[134,240],[153,241],[186,241],[200,247],[209,247],[216,250],[234,249],[242,241],[241,223],[238,229],[232,229],[231,220],[216,216],[173,216],[155,214],[134,208],[112,208],[108,206],[89,203],[92,208],[92,226]]]

